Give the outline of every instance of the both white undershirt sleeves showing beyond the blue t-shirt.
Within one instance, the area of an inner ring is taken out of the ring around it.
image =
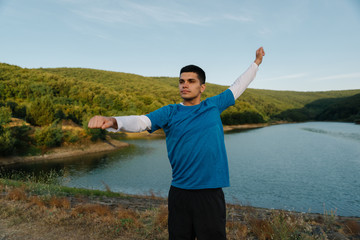
[[[252,63],[250,67],[229,87],[236,100],[255,79],[258,65]],[[115,117],[118,129],[107,128],[109,132],[142,132],[151,129],[151,121],[145,115],[131,115]]]

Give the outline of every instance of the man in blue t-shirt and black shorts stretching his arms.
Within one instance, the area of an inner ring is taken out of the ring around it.
[[[168,197],[169,239],[226,239],[226,209],[223,187],[229,170],[220,114],[235,104],[255,78],[265,52],[256,51],[254,63],[223,93],[201,101],[205,72],[194,65],[180,71],[179,91],[183,102],[170,104],[142,116],[95,116],[89,128],[109,131],[166,134],[172,183]]]

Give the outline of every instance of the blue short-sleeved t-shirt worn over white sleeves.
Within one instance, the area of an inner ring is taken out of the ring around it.
[[[151,131],[166,134],[172,185],[182,189],[228,187],[229,168],[220,114],[235,104],[231,90],[195,106],[171,104],[146,115]]]

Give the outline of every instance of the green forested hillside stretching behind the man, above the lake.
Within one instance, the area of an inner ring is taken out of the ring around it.
[[[176,77],[143,77],[81,68],[24,69],[0,63],[0,142],[3,148],[6,144],[14,145],[9,140],[11,134],[27,139],[25,127],[16,133],[4,127],[11,117],[49,129],[56,129],[56,123],[64,119],[86,126],[96,114],[146,114],[179,103],[177,85]],[[226,88],[207,83],[203,98]],[[354,121],[360,115],[359,101],[360,89],[328,92],[248,89],[235,106],[222,114],[222,119],[226,125],[277,120]],[[18,145],[22,146],[21,141]]]

